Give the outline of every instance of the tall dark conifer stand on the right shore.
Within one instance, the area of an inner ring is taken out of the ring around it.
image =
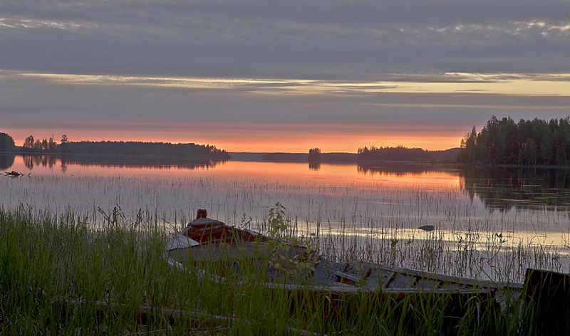
[[[461,140],[459,162],[517,165],[570,165],[570,116],[550,121],[514,122],[492,117],[481,132],[475,126]]]

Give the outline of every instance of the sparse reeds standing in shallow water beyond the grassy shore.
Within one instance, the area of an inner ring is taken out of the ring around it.
[[[570,271],[564,209],[489,211],[458,185],[410,182],[170,175],[38,175],[0,179],[4,209],[34,216],[70,212],[103,226],[108,214],[138,216],[163,233],[180,231],[207,209],[211,218],[266,232],[276,202],[296,236],[319,253],[450,275],[521,282],[527,268]],[[419,226],[433,225],[425,232]]]

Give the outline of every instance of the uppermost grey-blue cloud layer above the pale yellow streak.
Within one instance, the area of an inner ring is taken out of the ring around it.
[[[4,1],[3,67],[371,79],[567,69],[568,1]]]

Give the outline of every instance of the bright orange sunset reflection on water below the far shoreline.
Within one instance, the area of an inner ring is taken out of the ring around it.
[[[78,159],[81,159],[79,161]],[[280,182],[301,182],[321,180],[323,183],[368,184],[413,184],[415,187],[458,187],[457,172],[437,171],[421,167],[417,172],[398,171],[378,172],[359,169],[356,164],[319,164],[318,169],[308,163],[298,162],[242,162],[227,161],[199,162],[183,160],[176,163],[132,163],[128,159],[121,162],[105,161],[101,157],[53,157],[16,155],[10,169],[32,174],[68,174],[99,176],[167,175],[188,176],[192,174],[215,177],[242,177],[274,179]]]

